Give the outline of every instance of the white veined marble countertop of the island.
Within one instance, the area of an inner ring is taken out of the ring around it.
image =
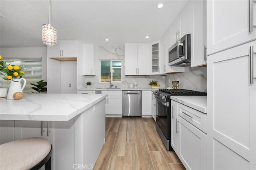
[[[106,94],[24,94],[21,100],[0,100],[0,120],[68,121]]]

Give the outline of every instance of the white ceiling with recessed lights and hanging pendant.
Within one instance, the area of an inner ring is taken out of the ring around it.
[[[52,0],[51,24],[57,28],[57,40],[99,45],[152,42],[166,33],[186,2]],[[158,9],[160,3],[164,7]],[[48,0],[1,0],[0,14],[0,47],[46,47],[41,26],[48,23]]]

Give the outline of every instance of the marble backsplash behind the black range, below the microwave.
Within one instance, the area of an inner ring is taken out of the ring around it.
[[[179,81],[180,89],[207,91],[206,67],[190,68],[186,67],[185,72],[170,74],[165,77],[166,86],[171,87],[172,81]]]

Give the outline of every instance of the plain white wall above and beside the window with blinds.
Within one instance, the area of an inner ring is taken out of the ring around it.
[[[39,59],[42,58],[42,79],[47,80],[47,53],[46,47],[1,48],[4,59]]]

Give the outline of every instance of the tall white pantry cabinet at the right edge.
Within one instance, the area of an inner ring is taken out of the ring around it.
[[[256,29],[248,15],[256,4],[228,4],[207,1],[207,169],[255,170]]]

